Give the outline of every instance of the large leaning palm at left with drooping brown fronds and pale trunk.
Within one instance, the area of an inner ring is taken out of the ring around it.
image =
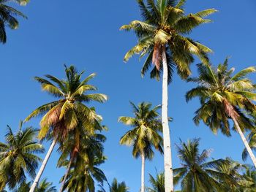
[[[96,114],[95,110],[83,104],[89,101],[104,102],[107,100],[107,96],[104,94],[87,94],[87,91],[97,90],[93,85],[87,84],[95,74],[90,74],[84,80],[81,80],[84,72],[78,73],[75,66],[65,66],[65,68],[65,80],[59,80],[50,74],[45,75],[48,80],[35,77],[35,80],[41,84],[42,90],[47,91],[58,100],[38,107],[26,118],[26,121],[28,121],[38,115],[44,115],[40,121],[41,129],[38,137],[39,139],[49,136],[53,137],[53,142],[50,145],[48,153],[45,155],[42,166],[29,192],[34,192],[58,139],[59,141],[63,141],[69,134],[69,131],[78,126],[78,122],[83,123],[83,127],[85,128],[91,128],[91,126],[88,126],[91,123],[94,126],[100,126],[98,123],[99,115]],[[94,130],[87,131],[93,134]]]

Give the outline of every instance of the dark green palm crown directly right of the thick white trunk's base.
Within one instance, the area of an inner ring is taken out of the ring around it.
[[[176,145],[178,158],[181,160],[181,167],[173,169],[176,174],[174,177],[175,184],[181,181],[181,191],[219,191],[218,181],[212,177],[218,172],[214,166],[223,164],[222,159],[208,161],[211,150],[199,152],[199,139],[188,140],[187,143],[181,142],[180,146]]]

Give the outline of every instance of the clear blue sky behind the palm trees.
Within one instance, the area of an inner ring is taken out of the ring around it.
[[[256,64],[256,1],[255,0],[189,0],[186,11],[197,12],[202,9],[215,8],[219,12],[212,15],[214,23],[197,28],[191,37],[211,47],[214,54],[211,62],[219,64],[226,56],[231,56],[230,67],[237,70]],[[67,1],[45,0],[31,2],[26,7],[18,7],[28,17],[20,19],[20,28],[7,30],[7,44],[0,45],[1,55],[1,108],[0,140],[3,141],[6,125],[17,130],[19,120],[26,118],[36,107],[53,101],[40,90],[34,76],[53,74],[64,77],[64,64],[74,64],[79,70],[92,72],[97,77],[91,84],[99,88],[98,93],[109,96],[105,104],[91,103],[103,116],[109,131],[105,142],[105,154],[108,161],[101,167],[111,182],[113,177],[124,180],[130,191],[140,189],[140,159],[132,158],[131,148],[118,145],[120,137],[129,129],[117,123],[118,116],[132,115],[129,101],[138,104],[151,101],[154,105],[161,103],[161,82],[150,80],[148,75],[140,77],[143,62],[138,57],[124,64],[124,53],[135,45],[135,35],[118,28],[131,20],[140,19],[140,12],[135,0],[113,1]],[[196,60],[195,64],[199,61]],[[196,75],[195,64],[192,67]],[[255,80],[255,76],[252,76]],[[169,115],[173,145],[173,166],[178,167],[175,143],[179,138],[187,140],[200,137],[200,148],[214,149],[212,157],[230,156],[241,161],[244,146],[238,134],[227,138],[214,134],[200,124],[192,122],[195,110],[199,107],[195,99],[189,104],[184,94],[192,84],[183,82],[174,75],[169,86]],[[39,118],[31,120],[24,126],[39,127]],[[48,150],[49,143],[44,142]],[[59,153],[53,153],[42,177],[48,177],[59,188],[59,179],[64,169],[57,169]],[[248,160],[247,163],[251,163]],[[153,161],[146,162],[146,181],[148,173],[155,174],[163,169],[163,157],[156,153]],[[146,182],[148,185],[148,182]]]

